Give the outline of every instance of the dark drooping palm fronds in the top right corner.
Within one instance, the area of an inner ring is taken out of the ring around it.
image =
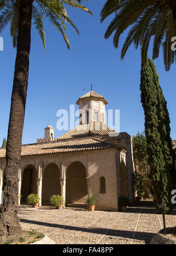
[[[101,11],[101,22],[115,14],[107,28],[105,38],[114,32],[113,43],[119,46],[120,35],[130,26],[126,41],[121,49],[121,59],[129,46],[141,46],[142,61],[147,60],[147,51],[153,37],[153,59],[158,58],[163,46],[164,65],[167,71],[176,57],[171,49],[176,36],[176,1],[175,0],[107,0]]]

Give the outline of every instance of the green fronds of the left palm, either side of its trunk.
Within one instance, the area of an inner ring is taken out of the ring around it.
[[[19,1],[21,0],[0,0],[0,33],[10,23],[13,46],[16,47],[18,40],[19,26]],[[32,6],[33,25],[39,32],[46,51],[45,31],[43,28],[43,18],[49,18],[49,21],[62,34],[67,48],[70,48],[69,40],[65,34],[66,23],[70,24],[79,34],[75,24],[67,15],[66,6],[73,9],[82,9],[92,15],[92,12],[80,3],[83,0],[35,0]]]

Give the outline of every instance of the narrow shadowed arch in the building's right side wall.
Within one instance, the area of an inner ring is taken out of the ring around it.
[[[127,197],[127,168],[123,160],[120,163],[120,196]]]

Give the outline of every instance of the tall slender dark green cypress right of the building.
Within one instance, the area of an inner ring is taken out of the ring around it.
[[[164,201],[165,210],[172,210],[171,177],[174,174],[172,146],[170,146],[170,119],[167,103],[158,82],[154,62],[148,59],[141,66],[141,103],[145,114],[145,135],[147,139],[148,164],[151,167],[151,194],[155,207]]]

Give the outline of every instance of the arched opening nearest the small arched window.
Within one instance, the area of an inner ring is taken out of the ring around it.
[[[66,171],[66,202],[87,203],[86,167],[76,161],[69,165]]]

